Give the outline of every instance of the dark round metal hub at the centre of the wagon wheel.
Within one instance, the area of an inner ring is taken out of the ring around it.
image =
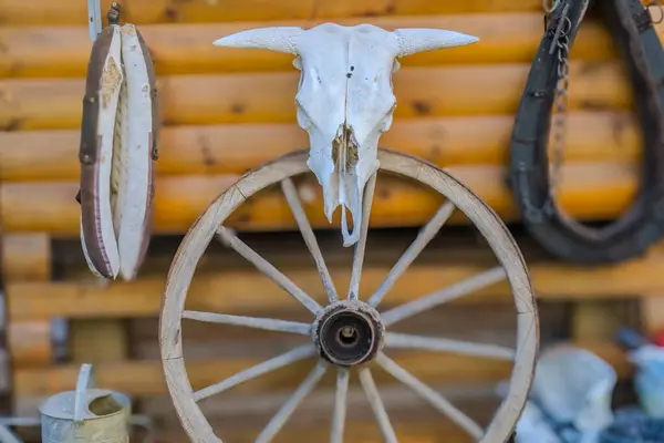
[[[312,331],[321,357],[342,367],[365,363],[383,347],[380,315],[361,301],[342,300],[329,306]]]

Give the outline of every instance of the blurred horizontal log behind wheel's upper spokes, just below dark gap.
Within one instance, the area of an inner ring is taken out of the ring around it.
[[[664,281],[656,278],[664,261],[640,259],[613,267],[579,268],[560,264],[530,264],[535,291],[539,299],[623,298],[644,292],[664,293]],[[362,274],[360,293],[371,293],[385,278],[390,265],[369,265]],[[347,287],[350,267],[331,266],[338,287]],[[386,306],[412,301],[448,287],[486,266],[450,264],[413,265],[398,279],[385,299]],[[314,268],[284,269],[288,277],[318,300],[325,295]],[[165,276],[141,278],[133,282],[114,282],[105,288],[94,282],[17,282],[7,292],[14,302],[9,319],[154,317],[162,309]],[[459,302],[510,300],[509,286],[497,284]],[[188,291],[187,309],[240,313],[301,308],[267,277],[256,270],[227,270],[196,275]],[[302,311],[303,312],[303,311]]]

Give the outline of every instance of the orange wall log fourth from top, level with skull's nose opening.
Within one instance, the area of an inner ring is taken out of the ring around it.
[[[440,166],[504,164],[513,115],[396,119],[381,145]],[[572,112],[566,162],[631,162],[641,134],[630,112]],[[481,127],[483,131],[477,131]],[[0,182],[77,181],[77,130],[0,132]],[[159,136],[160,175],[242,174],[309,144],[295,124],[167,126]]]

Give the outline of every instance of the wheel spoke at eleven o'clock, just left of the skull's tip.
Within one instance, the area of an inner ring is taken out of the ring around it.
[[[307,248],[309,248],[309,251],[313,256],[315,267],[318,268],[321,276],[321,281],[323,282],[323,288],[325,288],[325,292],[328,293],[328,301],[332,303],[339,300],[339,295],[336,293],[334,281],[332,281],[332,276],[330,275],[330,270],[325,265],[325,260],[323,259],[321,248],[315,239],[315,235],[313,234],[309,218],[307,218],[307,214],[304,214],[302,202],[300,202],[300,197],[298,196],[298,192],[295,190],[293,182],[290,178],[281,181],[281,190],[283,192],[286,200],[293,213],[293,217],[298,223],[300,233],[302,233],[302,238],[307,244]]]

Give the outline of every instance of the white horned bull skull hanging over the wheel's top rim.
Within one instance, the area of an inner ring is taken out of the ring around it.
[[[434,29],[385,31],[372,24],[342,27],[325,23],[303,30],[261,28],[214,42],[218,47],[257,48],[297,55],[302,73],[295,105],[298,124],[309,133],[307,165],[323,188],[328,220],[342,205],[344,246],[360,238],[362,197],[378,168],[378,138],[392,124],[396,99],[392,74],[396,58],[478,41],[457,32]],[[346,212],[353,217],[349,233]]]

